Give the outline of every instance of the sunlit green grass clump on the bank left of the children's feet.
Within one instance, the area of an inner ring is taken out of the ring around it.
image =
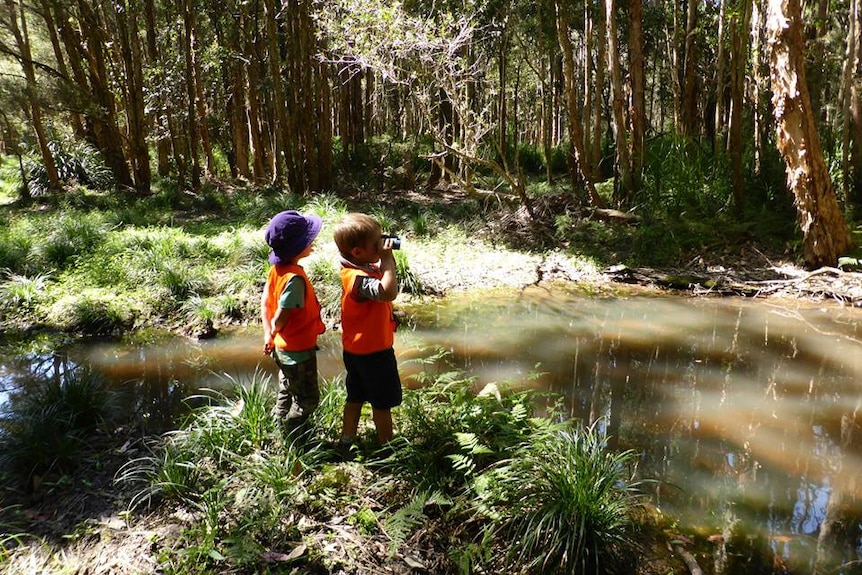
[[[288,519],[307,494],[304,473],[319,457],[282,436],[269,376],[225,376],[225,391],[203,402],[176,431],[150,443],[150,455],[127,463],[117,481],[137,489],[132,509],[173,501],[197,520],[181,549],[163,550],[169,572],[231,572],[257,565],[266,549],[298,537]]]

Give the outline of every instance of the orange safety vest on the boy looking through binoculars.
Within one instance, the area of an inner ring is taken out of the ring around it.
[[[383,351],[395,342],[395,316],[391,301],[353,297],[353,285],[359,276],[382,279],[380,272],[341,268],[341,344],[344,351],[365,355]]]

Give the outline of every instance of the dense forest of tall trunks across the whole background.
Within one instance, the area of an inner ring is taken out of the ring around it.
[[[859,4],[3,0],[0,152],[23,199],[73,177],[337,193],[358,166],[530,214],[541,180],[622,210],[792,197],[805,262],[834,265],[862,203]],[[104,169],[75,176],[87,151]],[[674,189],[693,162],[706,181]]]

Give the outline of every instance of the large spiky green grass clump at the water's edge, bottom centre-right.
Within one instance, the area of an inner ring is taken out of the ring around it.
[[[645,501],[636,454],[607,448],[597,426],[537,420],[527,441],[475,482],[478,508],[530,573],[631,573],[634,512]]]

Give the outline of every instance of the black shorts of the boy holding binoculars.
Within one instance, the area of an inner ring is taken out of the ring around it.
[[[347,369],[347,403],[371,404],[374,409],[392,409],[401,405],[401,378],[398,362],[391,347],[365,355],[345,351]]]

